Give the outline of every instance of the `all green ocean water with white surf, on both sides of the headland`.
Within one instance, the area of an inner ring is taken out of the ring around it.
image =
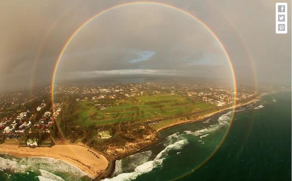
[[[280,92],[236,112],[169,128],[156,144],[117,160],[113,178],[105,180],[290,181],[291,109],[291,92]],[[0,157],[0,181],[88,180],[62,161]]]

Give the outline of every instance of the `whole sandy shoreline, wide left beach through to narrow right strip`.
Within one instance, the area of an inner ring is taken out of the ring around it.
[[[242,104],[236,104],[233,106],[229,106],[227,108],[224,108],[222,110],[218,110],[212,113],[209,113],[207,115],[201,115],[199,116],[197,119],[195,120],[188,120],[188,121],[179,121],[177,123],[174,124],[170,124],[167,125],[165,127],[159,128],[156,131],[158,133],[180,125],[180,124],[189,124],[189,123],[193,123],[193,122],[198,122],[198,121],[202,121],[208,117],[211,117],[213,115],[217,115],[219,113],[222,113],[224,111],[230,110],[230,109],[237,109],[241,106],[245,106],[248,104],[252,104],[257,102],[258,100],[260,100],[260,97],[269,94],[269,93],[262,93],[260,95],[258,95],[256,98],[249,100],[247,102],[244,102]],[[158,140],[157,140],[158,141]],[[152,145],[152,144],[151,144]],[[148,145],[150,146],[150,145]],[[147,146],[147,147],[148,147]],[[66,149],[69,148],[69,149]],[[93,153],[87,151],[88,149],[92,150],[92,152],[95,152],[99,158],[95,157],[93,155]],[[127,154],[132,155],[135,154],[135,151],[131,154]],[[8,153],[11,154],[15,157],[48,157],[48,158],[54,158],[54,159],[59,159],[64,161],[67,164],[71,164],[74,165],[76,167],[78,167],[79,169],[81,169],[81,171],[85,172],[88,174],[88,177],[90,177],[91,179],[94,180],[98,180],[98,179],[103,179],[104,177],[107,178],[111,178],[112,174],[114,173],[115,170],[115,161],[118,159],[122,159],[127,157],[127,155],[123,155],[123,156],[119,156],[116,158],[107,158],[107,156],[104,156],[103,153],[98,152],[95,149],[92,148],[86,148],[84,146],[81,145],[74,145],[74,144],[68,144],[68,145],[59,145],[56,144],[51,148],[28,148],[28,147],[18,147],[16,145],[4,145],[1,144],[0,145],[0,153]],[[82,157],[78,156],[79,153],[82,153]],[[77,157],[77,158],[75,158]]]

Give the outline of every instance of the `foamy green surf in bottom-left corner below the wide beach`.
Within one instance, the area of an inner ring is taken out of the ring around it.
[[[48,157],[0,154],[0,181],[90,181],[78,167]]]

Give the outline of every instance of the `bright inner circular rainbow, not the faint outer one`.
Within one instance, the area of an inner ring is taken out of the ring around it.
[[[104,15],[105,13],[108,13],[114,9],[117,8],[121,8],[121,7],[127,7],[127,6],[132,6],[132,5],[157,5],[157,6],[162,6],[165,8],[169,8],[172,10],[175,10],[183,15],[189,16],[190,18],[194,19],[196,22],[199,22],[211,35],[213,38],[215,38],[215,40],[217,41],[217,43],[220,45],[221,49],[224,51],[225,56],[227,58],[228,64],[230,66],[230,70],[231,70],[231,74],[232,74],[232,79],[233,79],[233,89],[234,89],[234,101],[233,101],[233,113],[231,115],[231,121],[229,124],[229,127],[227,128],[226,134],[223,137],[222,141],[220,142],[219,146],[211,153],[211,155],[200,165],[196,166],[193,171],[195,171],[196,169],[198,169],[200,166],[204,165],[205,163],[207,163],[210,158],[217,152],[217,150],[221,147],[221,145],[224,143],[226,136],[230,130],[230,127],[232,125],[233,119],[234,119],[234,109],[235,109],[235,105],[236,105],[236,98],[237,98],[237,81],[236,81],[236,75],[235,75],[235,71],[232,65],[232,62],[230,60],[230,57],[227,53],[227,50],[225,48],[225,46],[223,45],[223,43],[220,41],[220,39],[218,38],[218,36],[211,30],[211,28],[205,24],[204,22],[202,22],[200,19],[198,19],[197,17],[195,17],[194,15],[192,15],[191,13],[178,8],[176,6],[170,5],[170,4],[165,4],[165,3],[161,3],[161,2],[152,2],[152,1],[136,1],[136,2],[129,2],[129,3],[123,3],[123,4],[118,4],[112,7],[109,7],[99,13],[97,13],[96,15],[92,16],[91,18],[87,19],[84,23],[82,23],[69,37],[69,39],[65,42],[62,50],[60,51],[58,58],[56,60],[54,69],[53,69],[53,74],[52,74],[52,79],[51,79],[51,101],[52,101],[52,109],[54,110],[54,84],[55,84],[55,78],[56,78],[56,72],[58,69],[58,66],[60,64],[60,61],[62,59],[62,56],[65,52],[65,50],[67,49],[68,45],[70,44],[70,42],[73,40],[73,38],[87,25],[89,24],[92,20],[94,20],[95,18]],[[185,175],[184,175],[185,176]]]

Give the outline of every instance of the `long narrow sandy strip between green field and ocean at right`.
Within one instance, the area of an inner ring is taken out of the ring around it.
[[[259,98],[260,98],[260,96],[259,96]],[[164,127],[162,127],[162,128],[159,128],[159,129],[157,129],[156,131],[161,132],[161,131],[163,131],[163,130],[165,130],[165,129],[167,129],[167,128],[170,128],[170,127],[173,127],[173,126],[176,126],[176,125],[179,125],[179,124],[185,124],[185,123],[191,123],[191,122],[200,121],[200,120],[202,120],[202,119],[205,119],[205,118],[211,117],[212,115],[216,115],[216,114],[218,114],[218,113],[224,112],[224,111],[226,111],[226,110],[228,110],[228,109],[236,109],[236,108],[239,108],[239,107],[244,106],[244,105],[248,105],[248,104],[255,103],[255,102],[257,102],[257,101],[259,100],[259,98],[257,98],[257,99],[252,99],[252,100],[250,100],[250,101],[248,101],[248,102],[245,102],[245,103],[243,103],[243,104],[237,104],[237,105],[235,105],[235,106],[230,106],[230,107],[227,107],[227,108],[221,109],[221,110],[219,110],[219,111],[212,112],[212,113],[207,114],[207,115],[199,116],[199,117],[198,117],[197,119],[195,119],[195,120],[178,121],[178,122],[176,122],[176,123],[174,123],[174,124],[170,124],[170,125],[164,126]]]

